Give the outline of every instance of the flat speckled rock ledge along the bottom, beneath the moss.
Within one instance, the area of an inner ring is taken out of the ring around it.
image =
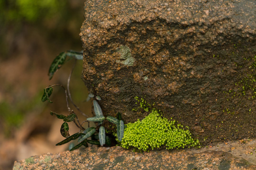
[[[151,151],[115,147],[47,153],[16,161],[13,170],[255,170],[256,165],[222,151]]]

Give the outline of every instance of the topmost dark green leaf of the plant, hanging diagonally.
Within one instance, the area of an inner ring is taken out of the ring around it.
[[[58,71],[59,68],[61,68],[61,66],[64,64],[65,60],[66,60],[66,53],[65,52],[60,53],[53,60],[51,66],[49,68],[49,72],[48,72],[49,79],[52,79],[55,72]]]

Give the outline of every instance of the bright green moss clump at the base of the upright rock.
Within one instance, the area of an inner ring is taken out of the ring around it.
[[[166,149],[178,149],[199,144],[198,140],[192,138],[189,130],[183,129],[183,126],[176,124],[175,120],[162,118],[161,112],[156,109],[153,109],[143,120],[138,119],[126,126],[121,141],[121,146],[126,149],[135,147],[147,151],[161,146],[165,146]]]

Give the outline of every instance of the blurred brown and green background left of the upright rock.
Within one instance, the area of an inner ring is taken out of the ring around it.
[[[63,121],[49,114],[68,114],[64,91],[54,87],[52,104],[41,102],[41,97],[48,85],[66,87],[74,60],[51,81],[47,73],[60,52],[82,50],[83,4],[84,0],[0,0],[0,170],[11,170],[15,160],[67,150],[68,144],[55,146],[64,139]],[[91,115],[81,73],[82,60],[74,69],[70,90],[73,101]],[[79,131],[73,122],[69,126],[71,135]]]

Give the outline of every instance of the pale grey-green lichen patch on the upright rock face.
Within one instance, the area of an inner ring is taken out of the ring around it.
[[[118,52],[121,54],[120,60],[116,60],[117,63],[122,63],[127,66],[133,66],[135,58],[132,57],[131,51],[128,46],[120,45]]]

